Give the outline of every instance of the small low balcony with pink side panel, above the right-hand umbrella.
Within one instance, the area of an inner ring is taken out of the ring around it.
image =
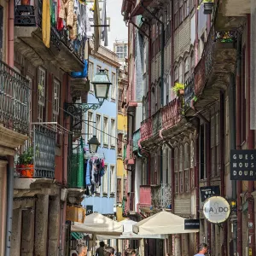
[[[160,185],[140,186],[140,208],[154,210],[172,208],[172,186],[168,183]]]

